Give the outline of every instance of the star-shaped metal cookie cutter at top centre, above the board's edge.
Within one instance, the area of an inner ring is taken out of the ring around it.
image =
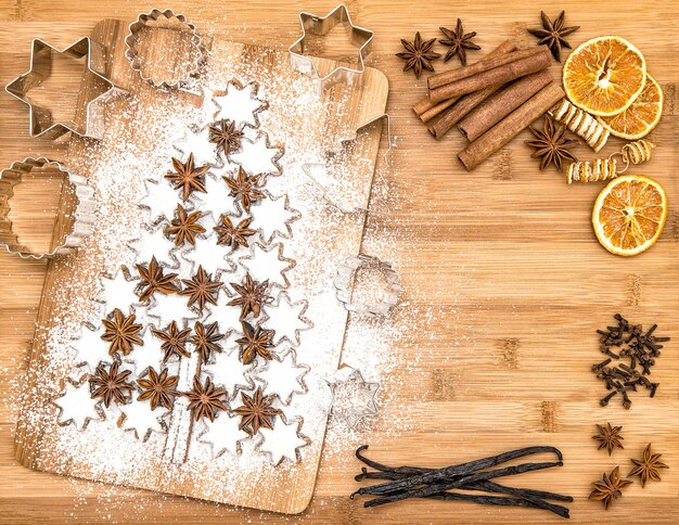
[[[363,57],[371,51],[374,33],[354,25],[346,5],[341,3],[322,17],[303,11],[299,13],[299,24],[302,25],[302,36],[287,50],[290,62],[299,72],[316,77],[321,91],[333,84],[350,84],[356,80],[357,76],[362,75],[366,71]],[[304,54],[306,41],[308,35],[328,35],[337,24],[343,24],[347,27],[351,43],[358,47],[357,67],[336,66],[326,75],[321,76],[313,56]]]

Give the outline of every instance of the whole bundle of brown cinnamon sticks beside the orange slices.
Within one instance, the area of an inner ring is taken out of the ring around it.
[[[507,40],[475,64],[432,75],[413,111],[437,139],[457,125],[469,140],[458,158],[474,169],[563,99],[550,64],[547,48]]]

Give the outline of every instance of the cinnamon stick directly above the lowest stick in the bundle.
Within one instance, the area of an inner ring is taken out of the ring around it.
[[[472,142],[551,81],[552,76],[547,69],[520,78],[471,111],[460,120],[458,128]]]

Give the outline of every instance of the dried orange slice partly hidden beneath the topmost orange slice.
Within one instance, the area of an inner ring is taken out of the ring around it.
[[[646,85],[637,100],[612,117],[597,117],[601,125],[620,139],[638,140],[644,138],[657,126],[663,115],[663,90],[651,75],[646,75]]]

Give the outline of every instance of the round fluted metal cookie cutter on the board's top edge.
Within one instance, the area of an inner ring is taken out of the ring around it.
[[[136,49],[138,43],[136,40],[139,33],[145,27],[180,30],[179,26],[182,26],[184,30],[189,30],[191,34],[191,44],[197,51],[197,57],[192,64],[192,67],[185,72],[185,77],[180,78],[177,81],[172,81],[172,79],[153,78],[152,76],[144,75],[143,61],[139,50]],[[196,31],[195,26],[189,22],[183,14],[175,14],[171,9],[166,9],[165,11],[154,9],[150,13],[140,14],[137,17],[137,21],[129,25],[129,33],[127,37],[125,37],[125,56],[130,62],[132,71],[137,72],[142,80],[156,88],[184,88],[191,80],[200,76],[207,61],[207,48]]]

